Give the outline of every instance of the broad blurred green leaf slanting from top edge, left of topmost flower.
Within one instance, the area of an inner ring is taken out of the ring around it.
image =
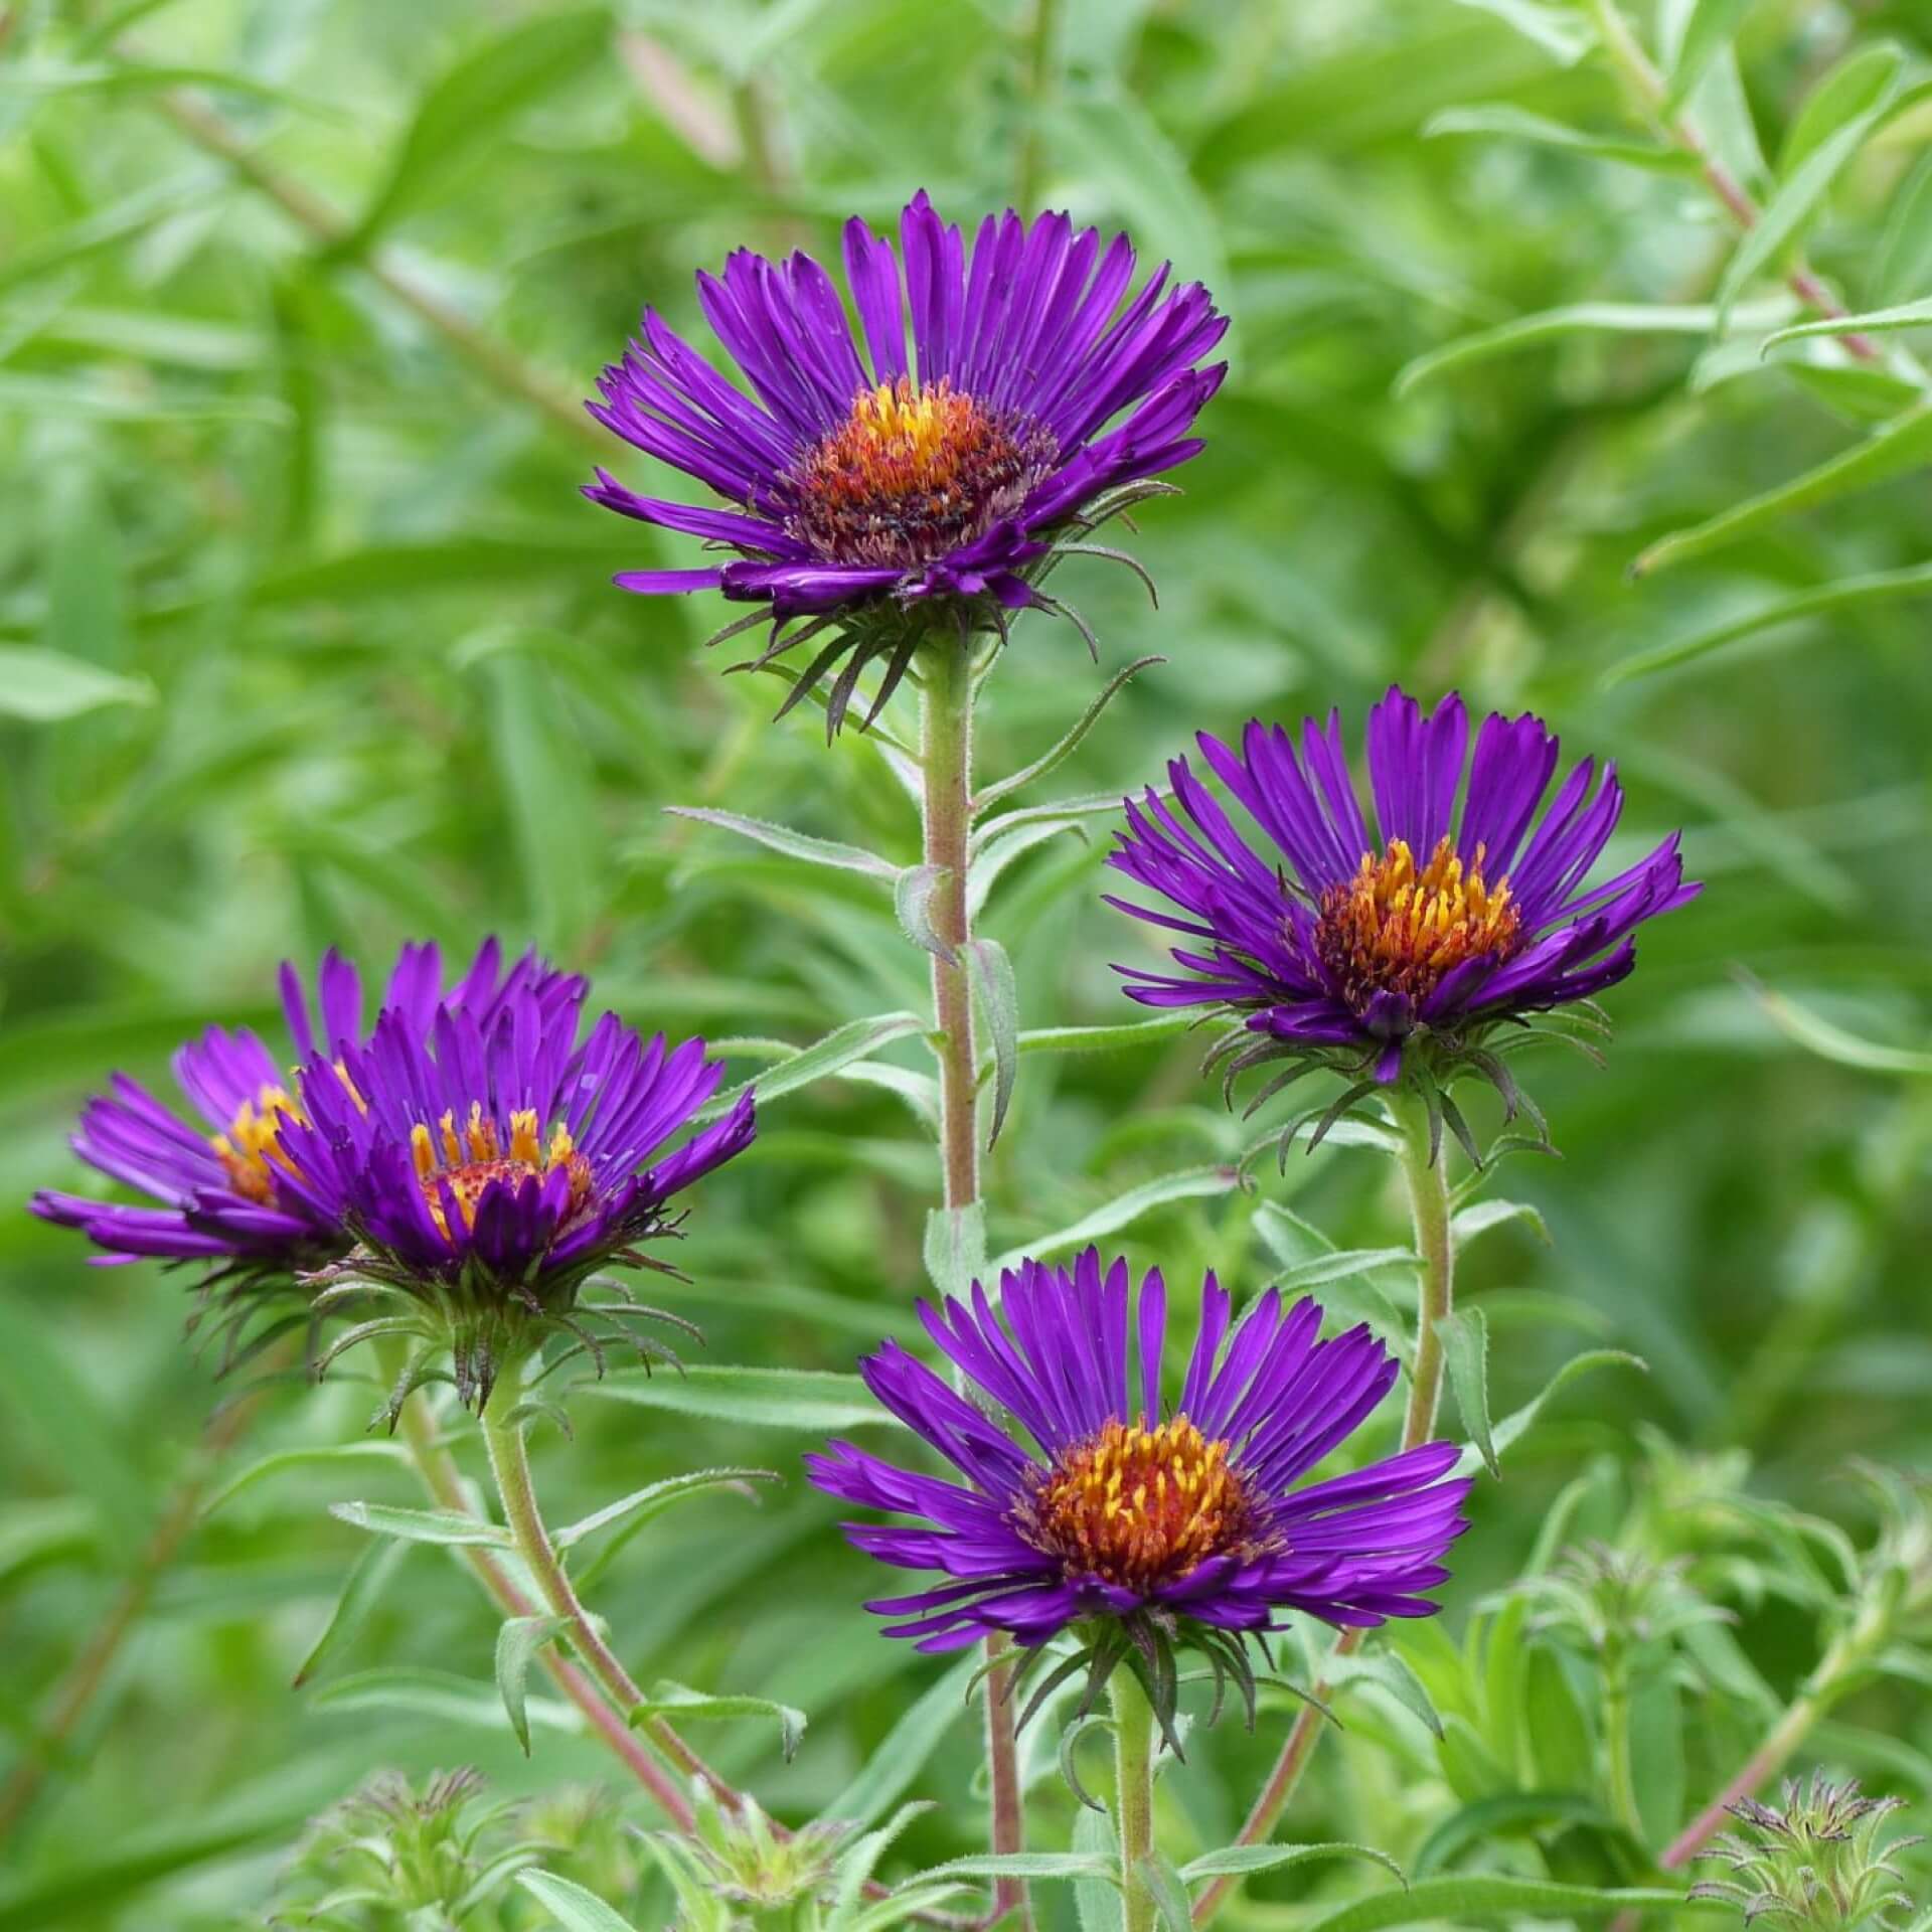
[[[504,126],[587,68],[611,39],[603,8],[537,14],[458,60],[415,106],[342,253],[361,253],[500,145]]]

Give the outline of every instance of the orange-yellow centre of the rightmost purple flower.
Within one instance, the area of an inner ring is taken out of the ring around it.
[[[1428,866],[1391,838],[1381,858],[1362,854],[1347,885],[1321,900],[1316,952],[1341,997],[1364,1010],[1378,993],[1422,1003],[1464,960],[1505,958],[1517,947],[1519,914],[1509,881],[1484,879],[1478,844],[1464,864],[1441,838]]]

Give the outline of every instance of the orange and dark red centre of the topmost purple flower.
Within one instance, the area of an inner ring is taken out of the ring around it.
[[[786,527],[844,564],[914,566],[983,535],[1051,469],[1055,440],[951,381],[862,388],[786,475]]]

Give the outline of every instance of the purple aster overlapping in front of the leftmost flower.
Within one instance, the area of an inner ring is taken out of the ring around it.
[[[402,1310],[359,1323],[323,1366],[373,1335],[415,1335],[423,1347],[390,1414],[442,1349],[460,1397],[477,1405],[549,1329],[566,1329],[601,1370],[599,1329],[663,1316],[630,1300],[580,1304],[578,1291],[612,1262],[670,1273],[639,1244],[676,1233],[672,1196],[752,1144],[746,1094],[667,1151],[724,1072],[701,1039],[645,1041],[614,1012],[580,1032],[578,999],[522,985],[487,1012],[437,1007],[427,1024],[392,1009],[367,1043],[301,1068],[284,1184],[355,1242],[323,1298],[373,1289]],[[668,1354],[618,1331],[645,1360]]]

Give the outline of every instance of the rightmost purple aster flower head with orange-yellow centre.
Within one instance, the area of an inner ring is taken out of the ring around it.
[[[1623,811],[1615,765],[1598,775],[1586,757],[1538,811],[1557,769],[1542,719],[1492,713],[1474,755],[1468,738],[1461,697],[1426,717],[1391,688],[1368,715],[1370,819],[1339,713],[1302,723],[1300,755],[1279,724],[1250,723],[1240,750],[1204,732],[1208,769],[1260,837],[1186,759],[1167,767],[1171,798],[1126,802],[1107,864],[1175,910],[1111,904],[1184,941],[1180,974],[1121,968],[1128,997],[1238,1016],[1223,1043],[1242,1049],[1231,1074],[1291,1057],[1300,1066],[1285,1078],[1323,1065],[1356,1076],[1350,1099],[1405,1072],[1434,1097],[1468,1066],[1515,1111],[1497,1030],[1561,1007],[1592,1012],[1631,972],[1636,929],[1700,887],[1685,883],[1677,835],[1588,885]],[[1447,1113],[1463,1132],[1453,1103]]]

